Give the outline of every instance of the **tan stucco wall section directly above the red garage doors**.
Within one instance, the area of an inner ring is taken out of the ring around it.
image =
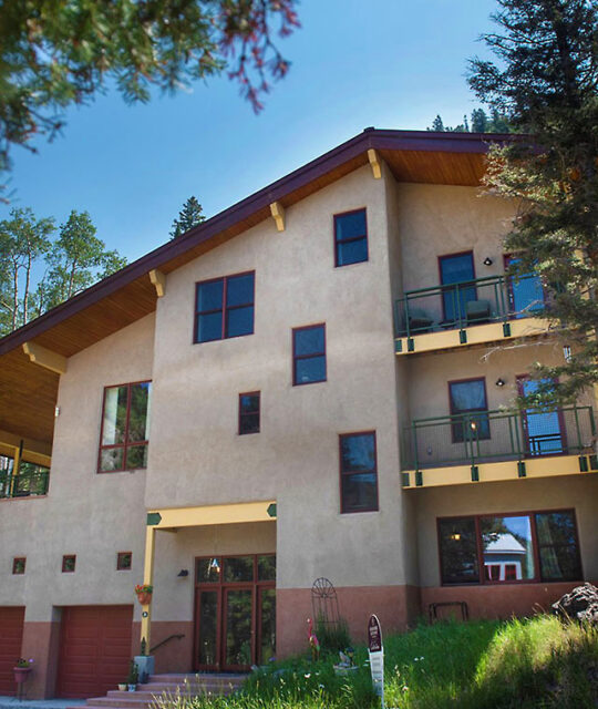
[[[50,489],[43,499],[0,502],[0,605],[25,605],[25,621],[50,621],[52,606],[132,603],[143,568],[145,472],[99,475],[105,386],[152,378],[154,316],[70,358],[61,377]],[[117,552],[133,569],[116,571]],[[62,555],[76,569],[62,574]],[[25,556],[23,576],[12,557]]]

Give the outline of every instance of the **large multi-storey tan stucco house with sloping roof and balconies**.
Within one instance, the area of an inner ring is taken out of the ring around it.
[[[0,340],[0,695],[302,650],[320,577],[355,641],[598,580],[594,392],[508,410],[567,352],[487,140],[368,129]]]

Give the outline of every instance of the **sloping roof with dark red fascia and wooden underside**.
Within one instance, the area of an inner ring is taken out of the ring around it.
[[[156,308],[148,274],[168,274],[270,217],[270,204],[289,207],[368,164],[375,150],[399,182],[478,185],[488,142],[513,136],[365,129],[0,339],[0,430],[52,440],[58,374],[31,364],[22,351],[34,342],[71,357]]]

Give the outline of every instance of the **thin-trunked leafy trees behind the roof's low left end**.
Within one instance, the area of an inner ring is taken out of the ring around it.
[[[86,212],[73,209],[52,240],[54,234],[54,219],[38,219],[29,208],[0,222],[0,336],[126,265],[95,236]]]

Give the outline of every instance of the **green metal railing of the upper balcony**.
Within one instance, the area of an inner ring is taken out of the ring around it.
[[[395,301],[395,332],[396,337],[413,337],[485,322],[508,322],[539,315],[544,307],[537,276],[488,276],[405,291]]]

